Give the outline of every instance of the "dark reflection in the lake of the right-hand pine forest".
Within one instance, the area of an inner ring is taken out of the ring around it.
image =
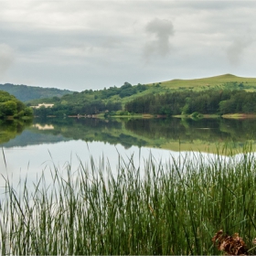
[[[137,119],[125,123],[125,128],[150,139],[165,138],[191,142],[246,141],[256,139],[256,120],[227,119]]]

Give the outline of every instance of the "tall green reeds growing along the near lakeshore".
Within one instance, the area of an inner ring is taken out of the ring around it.
[[[256,159],[203,155],[136,168],[120,156],[51,170],[16,191],[5,177],[0,239],[5,254],[219,254],[212,237],[256,237]],[[255,253],[254,249],[251,253]]]

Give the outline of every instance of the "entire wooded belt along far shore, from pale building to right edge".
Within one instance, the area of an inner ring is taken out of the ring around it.
[[[125,84],[127,86],[127,84]],[[124,86],[123,86],[124,87]],[[125,88],[125,87],[124,87]],[[129,86],[128,89],[138,90]],[[139,87],[140,88],[140,87]],[[146,87],[143,88],[147,90]],[[115,91],[115,92],[114,92]],[[128,93],[125,90],[125,93]],[[38,116],[46,115],[84,115],[104,112],[106,115],[116,113],[151,113],[160,115],[176,114],[226,114],[226,113],[255,113],[256,92],[243,90],[205,91],[174,91],[164,93],[150,93],[127,101],[108,100],[110,93],[124,93],[121,89],[99,91],[74,92],[61,98],[55,97],[52,108],[41,107],[35,109]],[[131,90],[132,91],[132,90]],[[129,92],[132,93],[132,92]],[[135,92],[138,93],[138,92]],[[119,95],[118,94],[118,95]],[[51,101],[52,102],[52,101]]]

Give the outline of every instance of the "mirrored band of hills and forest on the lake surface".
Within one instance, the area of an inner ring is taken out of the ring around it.
[[[248,141],[254,145],[256,120],[225,119],[46,119],[35,120],[15,140],[3,144],[16,146],[27,144],[58,143],[69,140],[104,142],[161,147],[170,150],[200,150],[216,152],[217,144],[229,143],[241,147]]]

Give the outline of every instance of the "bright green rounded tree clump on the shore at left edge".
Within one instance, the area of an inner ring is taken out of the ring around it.
[[[32,115],[32,109],[22,101],[18,101],[15,96],[6,91],[0,91],[0,119],[5,119],[7,116],[23,118]]]

